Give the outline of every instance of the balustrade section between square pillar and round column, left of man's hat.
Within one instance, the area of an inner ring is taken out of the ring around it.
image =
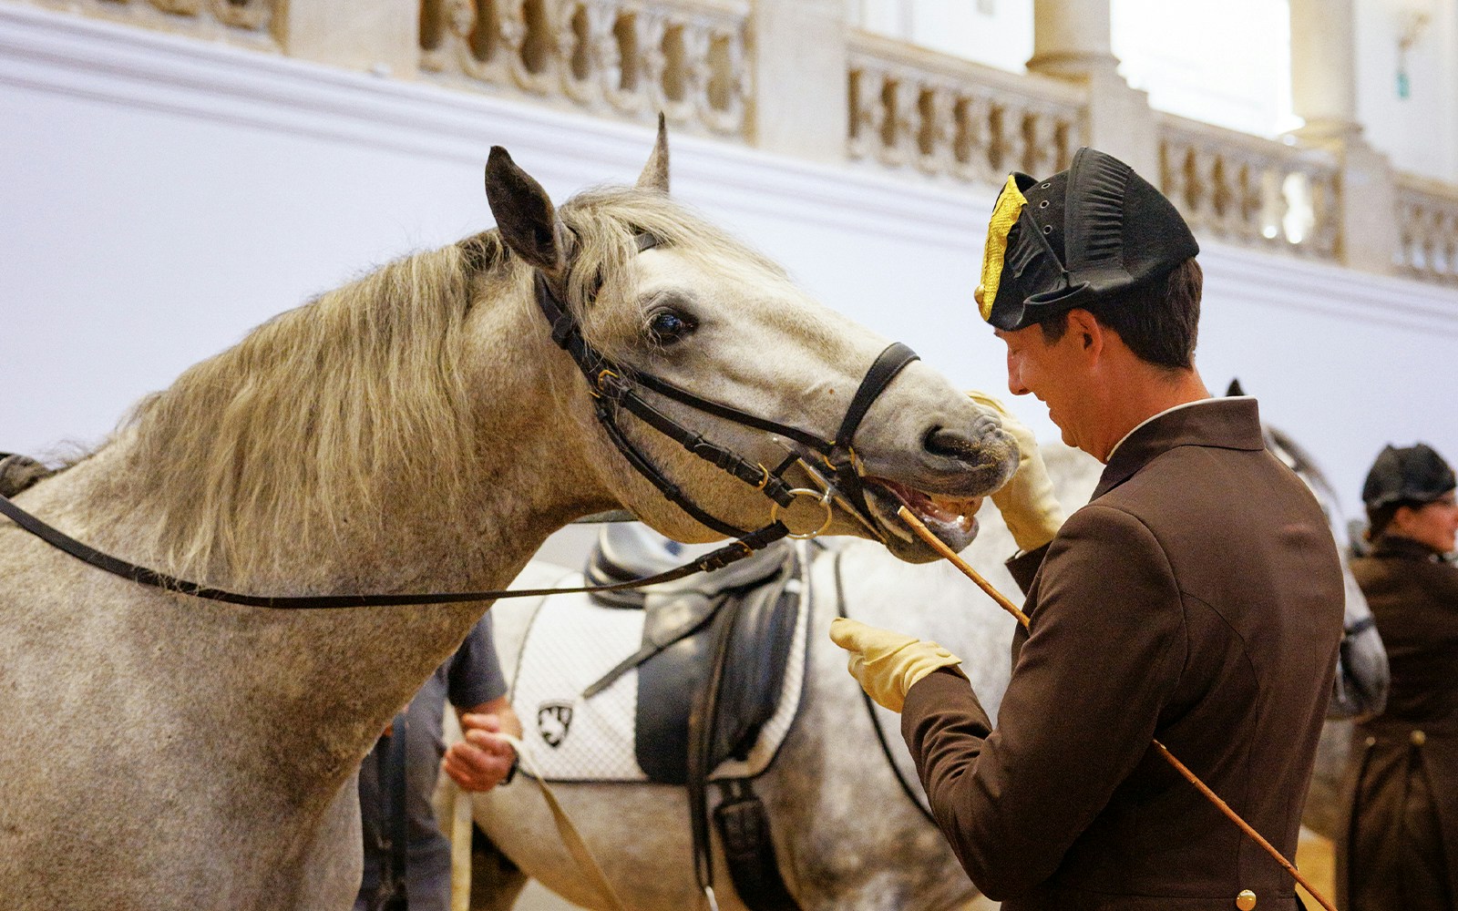
[[[869,32],[849,38],[851,159],[1002,184],[1053,173],[1082,144],[1083,92]]]

